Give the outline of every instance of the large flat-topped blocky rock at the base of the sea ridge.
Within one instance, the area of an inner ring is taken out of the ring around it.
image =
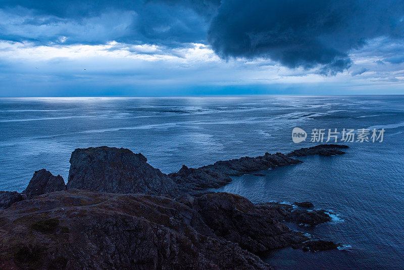
[[[167,174],[149,165],[142,154],[128,149],[106,146],[76,149],[70,164],[68,189],[178,194],[177,186]]]

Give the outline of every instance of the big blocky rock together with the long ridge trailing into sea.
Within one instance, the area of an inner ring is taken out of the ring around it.
[[[199,168],[183,165],[178,172],[168,175],[149,165],[142,154],[134,154],[128,149],[106,146],[76,149],[70,158],[67,188],[176,196],[183,192],[225,186],[232,181],[230,176],[302,162],[290,156],[343,153],[336,148],[346,146],[319,145],[288,155],[265,153],[264,156],[217,161]]]

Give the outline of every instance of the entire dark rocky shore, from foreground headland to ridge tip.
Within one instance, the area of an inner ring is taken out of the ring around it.
[[[285,221],[330,221],[310,202],[253,204],[203,191],[230,176],[300,163],[302,155],[343,154],[339,145],[287,155],[243,157],[164,174],[127,149],[76,149],[68,184],[44,169],[27,187],[0,192],[0,268],[270,269],[256,254],[338,244],[290,230]]]

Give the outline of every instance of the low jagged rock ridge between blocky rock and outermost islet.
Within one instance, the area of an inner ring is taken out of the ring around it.
[[[282,153],[259,157],[242,157],[226,161],[217,161],[212,165],[199,168],[188,168],[183,165],[178,172],[168,174],[183,191],[202,188],[219,188],[231,182],[230,176],[242,175],[258,170],[267,170],[277,166],[300,163],[300,160],[285,156]]]

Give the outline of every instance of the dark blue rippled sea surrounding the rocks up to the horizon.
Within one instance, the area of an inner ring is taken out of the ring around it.
[[[169,173],[315,145],[294,144],[295,126],[309,137],[313,128],[385,133],[382,143],[346,143],[345,155],[304,157],[218,189],[254,202],[308,200],[334,213],[333,222],[294,229],[343,250],[286,248],[263,258],[277,269],[404,268],[403,96],[0,99],[0,190],[22,191],[40,168],[67,180],[75,148],[129,148]]]

